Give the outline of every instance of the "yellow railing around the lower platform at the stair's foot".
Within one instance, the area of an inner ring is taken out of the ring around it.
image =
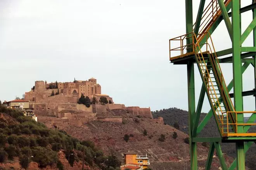
[[[237,121],[237,115],[238,114],[242,114],[242,122],[238,122]],[[223,126],[221,129],[221,132],[223,134],[223,136],[256,136],[256,133],[247,133],[247,132],[243,132],[243,133],[238,133],[237,129],[239,128],[239,126],[256,126],[256,123],[250,123],[250,122],[244,122],[244,115],[245,114],[256,114],[255,111],[234,111],[234,112],[223,112],[222,113],[222,120],[223,120]],[[230,116],[235,116],[235,122],[234,123],[230,123],[228,121]],[[248,116],[249,117],[249,116]],[[224,122],[225,120],[225,122]],[[255,120],[254,120],[255,121]],[[236,130],[230,132],[229,131],[229,126],[235,126]]]

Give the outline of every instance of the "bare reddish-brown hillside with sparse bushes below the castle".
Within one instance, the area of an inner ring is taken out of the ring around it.
[[[141,155],[147,153],[153,170],[183,170],[184,166],[189,169],[189,144],[184,142],[188,135],[165,125],[162,119],[134,116],[122,109],[110,110],[97,117],[98,120],[82,126],[69,125],[64,130],[80,140],[93,141],[106,154],[114,152],[119,160],[122,160],[123,153],[133,151]],[[47,126],[52,125],[49,123]],[[174,132],[177,133],[176,139],[173,138]],[[125,135],[126,140],[129,136],[127,142],[124,140]],[[205,165],[207,155],[207,146],[199,143],[198,160],[201,168]],[[232,162],[232,158],[225,157],[229,163]],[[214,157],[212,170],[219,167],[218,159]]]

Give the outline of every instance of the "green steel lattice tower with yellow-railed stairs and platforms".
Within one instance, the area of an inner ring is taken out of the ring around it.
[[[190,167],[197,170],[197,142],[210,142],[206,170],[211,167],[214,150],[223,170],[245,170],[245,153],[256,141],[256,133],[248,132],[256,126],[256,112],[243,111],[243,96],[256,96],[256,0],[241,8],[240,0],[201,0],[197,19],[193,23],[192,0],[186,2],[186,34],[169,40],[170,61],[173,64],[187,65],[188,101],[189,101],[189,136],[190,136]],[[231,12],[229,12],[231,10]],[[244,32],[241,32],[241,13],[253,11],[253,20]],[[231,17],[231,20],[230,20]],[[224,20],[232,41],[232,48],[215,51],[211,34]],[[244,47],[242,43],[253,31],[253,47]],[[178,44],[178,45],[175,45]],[[173,53],[177,53],[173,54]],[[232,56],[224,57],[228,54]],[[221,72],[220,63],[232,63],[233,80],[226,85]],[[197,66],[202,79],[202,87],[197,107],[195,107],[194,66]],[[254,89],[242,91],[242,74],[249,65],[254,67]],[[234,88],[234,93],[229,93]],[[211,110],[199,124],[204,97],[207,97]],[[234,105],[231,98],[234,97]],[[256,103],[256,97],[255,97]],[[251,115],[244,121],[246,114]],[[220,137],[200,138],[198,135],[214,117]],[[221,142],[235,143],[237,157],[227,167]]]

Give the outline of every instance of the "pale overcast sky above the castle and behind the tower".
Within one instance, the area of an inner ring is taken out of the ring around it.
[[[193,1],[194,21],[199,2]],[[251,20],[251,11],[242,14],[242,32]],[[186,66],[170,63],[168,42],[185,32],[185,0],[1,0],[0,100],[21,97],[36,80],[94,77],[115,103],[187,110]],[[216,51],[231,48],[224,21],[212,38]],[[243,46],[252,45],[251,34]],[[228,84],[232,64],[221,66]],[[252,66],[243,81],[243,90],[254,88]],[[244,97],[244,110],[254,110],[253,99]],[[208,110],[205,100],[202,111]]]

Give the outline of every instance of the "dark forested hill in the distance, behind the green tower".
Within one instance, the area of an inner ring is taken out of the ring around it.
[[[154,118],[163,117],[164,123],[169,124],[170,126],[174,126],[174,123],[178,122],[180,130],[188,134],[189,129],[188,129],[188,112],[187,111],[177,109],[177,108],[169,108],[169,109],[163,109],[163,110],[156,110],[152,112],[152,115]],[[205,115],[206,113],[201,114],[199,123],[202,121]],[[252,128],[255,128],[255,127],[252,127]],[[216,122],[213,117],[210,119],[206,127],[204,127],[204,129],[202,130],[199,136],[201,137],[220,136],[220,133],[218,132],[218,129],[216,126]],[[223,153],[226,153],[227,155],[235,158],[236,152],[235,152],[234,143],[222,143],[221,147],[222,147]],[[251,169],[255,169],[256,167],[255,154],[256,154],[256,145],[253,144],[246,153],[246,166]]]

